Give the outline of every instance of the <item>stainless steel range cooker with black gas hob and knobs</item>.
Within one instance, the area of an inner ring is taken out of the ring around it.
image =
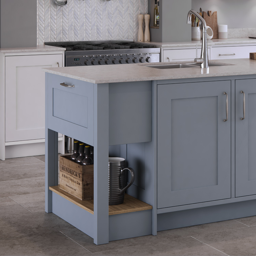
[[[66,48],[65,66],[160,62],[160,48],[133,40],[45,42]]]

